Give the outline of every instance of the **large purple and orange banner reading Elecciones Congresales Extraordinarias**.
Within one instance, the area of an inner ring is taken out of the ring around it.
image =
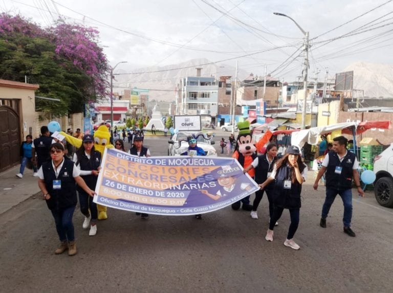
[[[94,201],[134,212],[201,214],[259,189],[232,158],[137,157],[106,149],[101,166]]]

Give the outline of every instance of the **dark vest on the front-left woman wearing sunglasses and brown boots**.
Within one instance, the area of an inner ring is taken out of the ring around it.
[[[53,170],[52,161],[42,164],[43,180],[51,198],[46,200],[50,210],[63,210],[76,206],[76,186],[72,176],[74,162],[64,159],[63,166],[56,178]],[[61,181],[61,189],[53,189],[53,181]]]

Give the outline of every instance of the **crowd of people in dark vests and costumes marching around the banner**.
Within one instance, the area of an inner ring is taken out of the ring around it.
[[[89,236],[97,233],[97,205],[93,202],[94,190],[97,184],[97,176],[101,169],[101,153],[95,150],[94,137],[91,134],[81,135],[80,129],[73,134],[72,129],[67,133],[78,140],[81,146],[73,152],[69,144],[51,137],[47,126],[42,126],[41,136],[32,140],[27,136],[21,144],[21,166],[19,178],[23,177],[24,169],[31,162],[34,176],[38,176],[38,186],[42,191],[48,208],[51,210],[55,221],[56,231],[60,240],[55,254],[61,254],[68,250],[70,256],[75,255],[76,243],[74,235],[73,214],[79,198],[80,212],[84,215],[83,229],[89,229]],[[115,129],[114,133],[116,133]],[[136,156],[150,156],[150,150],[143,146],[143,132],[134,129],[128,131],[123,138],[117,138],[114,147],[118,150],[129,152]],[[130,144],[129,150],[125,147],[125,136]],[[205,151],[198,147],[197,138],[187,137],[188,148],[182,155],[206,155]],[[326,153],[322,167],[315,179],[314,189],[317,190],[319,179],[323,174],[326,176],[326,196],[322,207],[320,226],[326,228],[326,218],[337,194],[344,204],[343,231],[349,236],[355,237],[351,229],[352,219],[352,182],[355,180],[358,192],[364,195],[360,187],[360,178],[357,172],[358,161],[354,153],[346,149],[347,139],[337,137],[333,140],[330,150]],[[229,146],[229,147],[228,147]],[[269,202],[269,228],[266,234],[267,241],[273,241],[274,227],[278,225],[284,210],[289,210],[291,223],[284,245],[298,250],[300,246],[293,240],[298,229],[301,208],[301,186],[307,179],[307,166],[302,162],[300,150],[296,146],[289,146],[285,154],[278,159],[278,147],[275,143],[267,144],[264,153],[256,155],[256,151],[249,156],[239,152],[238,142],[231,134],[228,140],[220,141],[222,153],[224,148],[233,149],[232,155],[242,161],[244,172],[248,173],[259,185],[260,190],[255,193],[253,203],[249,196],[232,204],[232,209],[237,210],[243,203],[243,209],[250,211],[252,219],[258,219],[257,208],[263,194],[266,192]],[[328,148],[328,145],[326,145]],[[72,155],[69,152],[73,152]],[[325,152],[325,150],[324,150]],[[251,160],[250,164],[244,165],[244,161]],[[235,206],[236,207],[235,207]],[[147,218],[146,213],[137,213],[142,218]],[[202,215],[195,215],[202,219]]]

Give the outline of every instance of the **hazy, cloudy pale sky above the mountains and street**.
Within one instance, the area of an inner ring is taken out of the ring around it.
[[[118,69],[129,71],[208,58],[233,66],[238,60],[258,75],[266,64],[273,76],[296,80],[303,33],[273,12],[309,31],[309,79],[317,68],[323,80],[325,67],[333,76],[356,61],[393,60],[392,0],[0,0],[0,9],[42,26],[61,15],[95,27],[110,63],[128,61]]]

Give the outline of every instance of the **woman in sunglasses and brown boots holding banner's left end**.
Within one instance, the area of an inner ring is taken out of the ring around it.
[[[94,195],[94,190],[91,190],[79,176],[80,171],[75,167],[74,162],[64,160],[64,147],[61,143],[51,145],[50,155],[51,160],[43,163],[38,170],[38,186],[55,219],[56,231],[60,239],[60,246],[55,254],[68,250],[68,255],[73,256],[76,254],[72,223],[77,203],[75,182],[91,196]]]

